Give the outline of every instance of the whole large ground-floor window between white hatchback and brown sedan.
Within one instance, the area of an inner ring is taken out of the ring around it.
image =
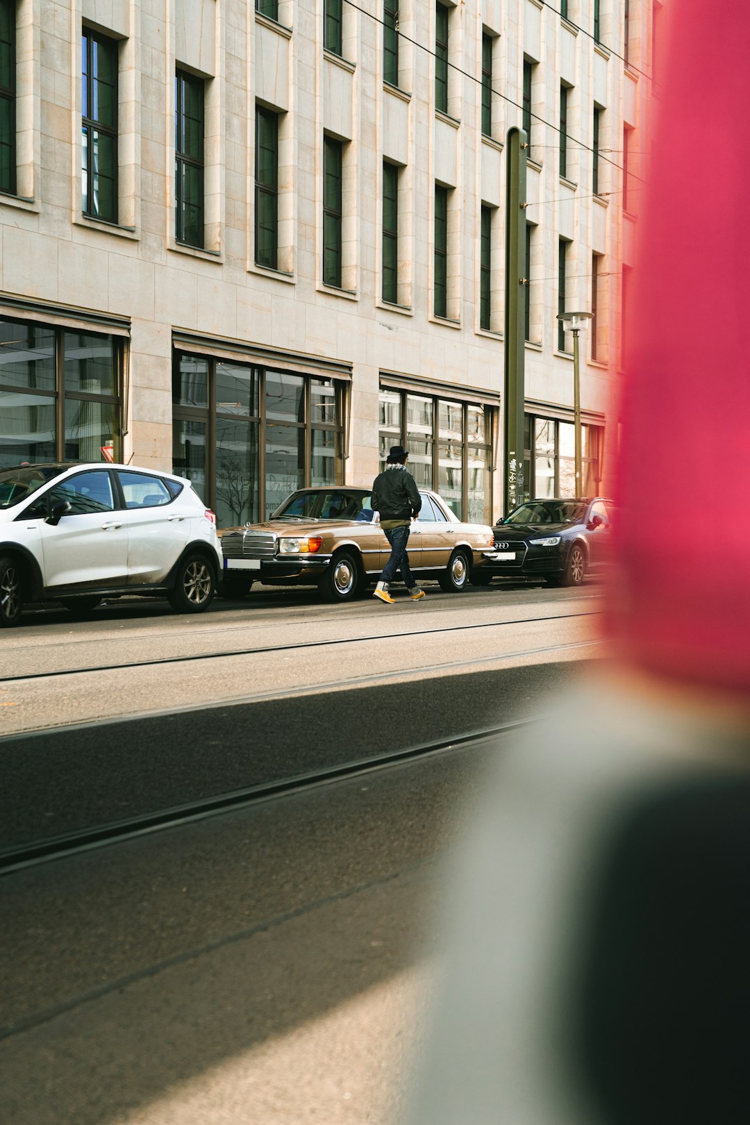
[[[343,384],[175,352],[172,469],[220,528],[271,515],[296,488],[343,480]]]

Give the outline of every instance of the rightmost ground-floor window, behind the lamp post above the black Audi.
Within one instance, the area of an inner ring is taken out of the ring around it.
[[[584,496],[602,490],[604,426],[581,424]],[[576,428],[560,418],[524,417],[524,498],[576,495]]]

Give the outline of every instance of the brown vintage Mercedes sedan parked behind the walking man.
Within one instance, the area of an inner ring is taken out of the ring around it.
[[[412,524],[408,555],[421,578],[436,578],[459,592],[484,565],[493,529],[462,523],[435,493],[421,490],[422,511]],[[219,532],[223,592],[242,597],[253,582],[317,584],[332,602],[346,602],[377,582],[390,547],[370,506],[367,488],[301,488],[264,523]]]

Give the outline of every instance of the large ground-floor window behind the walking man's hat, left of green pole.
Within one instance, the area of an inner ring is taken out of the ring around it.
[[[404,446],[417,485],[442,496],[460,520],[490,523],[493,413],[458,397],[381,388],[380,466],[391,446]]]

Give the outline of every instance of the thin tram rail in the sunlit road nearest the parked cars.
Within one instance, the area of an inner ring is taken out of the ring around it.
[[[482,621],[475,624],[461,624],[461,626],[450,624],[434,629],[413,629],[400,632],[368,633],[367,636],[363,637],[316,638],[315,640],[291,641],[283,645],[260,645],[250,648],[222,649],[219,651],[213,651],[213,652],[189,652],[189,654],[183,654],[181,656],[160,656],[145,660],[118,662],[118,663],[100,664],[100,665],[84,665],[83,667],[79,668],[69,667],[69,668],[54,668],[46,672],[18,673],[3,676],[2,682],[3,684],[9,684],[9,683],[29,682],[29,681],[53,681],[55,678],[83,675],[87,673],[126,672],[132,668],[148,668],[165,664],[180,665],[180,664],[195,663],[196,660],[220,660],[220,659],[226,659],[228,657],[262,656],[270,652],[281,654],[281,652],[310,649],[310,648],[324,648],[324,647],[328,648],[336,645],[340,646],[362,645],[373,641],[394,642],[394,641],[407,640],[408,638],[412,637],[424,638],[431,636],[434,637],[441,633],[458,633],[458,632],[469,632],[469,631],[478,631],[486,629],[501,629],[508,626],[537,624],[544,621],[558,622],[558,621],[564,621],[568,618],[599,616],[602,610],[581,610],[575,613],[553,613],[543,616],[514,618],[506,621]],[[157,638],[148,638],[148,640],[159,639],[159,637],[164,637],[164,636],[170,637],[170,639],[173,639],[174,637],[174,634],[171,633],[163,633],[159,634]],[[90,641],[84,641],[82,644],[90,644]],[[553,651],[561,647],[568,647],[568,646],[559,646],[559,645],[552,646],[552,648],[549,649],[549,651]],[[534,651],[546,651],[546,649],[540,649]],[[524,652],[524,654],[508,654],[508,655],[519,656],[527,654]],[[469,662],[469,663],[476,663],[476,662]],[[448,665],[446,667],[454,667],[454,665]]]

